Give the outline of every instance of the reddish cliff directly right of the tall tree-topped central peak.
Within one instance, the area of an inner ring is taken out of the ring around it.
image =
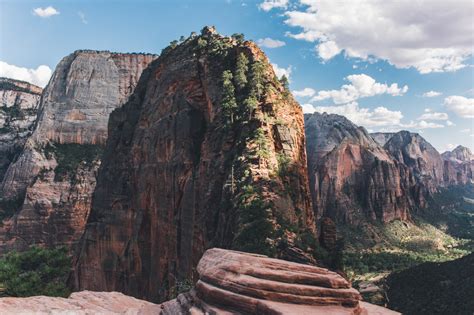
[[[413,204],[406,167],[364,128],[339,115],[305,115],[308,170],[317,217],[356,224],[407,219]]]

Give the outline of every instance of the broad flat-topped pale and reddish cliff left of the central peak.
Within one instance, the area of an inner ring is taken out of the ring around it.
[[[154,55],[76,51],[43,92],[36,128],[0,185],[7,213],[0,253],[32,243],[71,245],[90,210],[109,114],[121,106]]]

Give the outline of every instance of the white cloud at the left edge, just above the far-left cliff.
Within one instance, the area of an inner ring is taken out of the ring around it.
[[[48,66],[41,65],[36,69],[28,69],[10,65],[0,61],[0,77],[27,81],[41,87],[48,84],[52,71]]]

